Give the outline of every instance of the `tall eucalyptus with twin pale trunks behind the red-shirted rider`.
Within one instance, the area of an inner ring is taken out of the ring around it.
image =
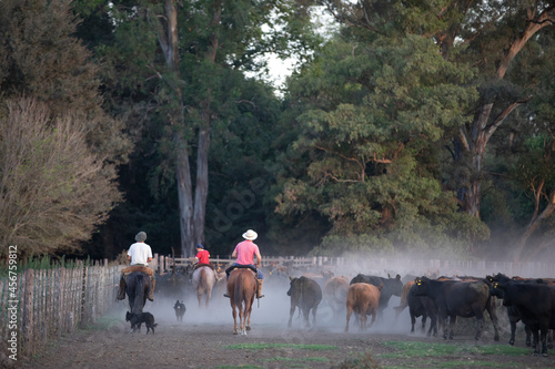
[[[204,242],[214,132],[225,131],[242,104],[255,103],[242,96],[245,73],[265,68],[258,57],[307,53],[317,39],[310,12],[302,2],[236,0],[107,1],[104,11],[115,35],[99,52],[114,75],[129,78],[108,83],[124,83],[135,102],[150,106],[142,116],[163,125],[159,150],[173,163],[181,254],[191,255]]]

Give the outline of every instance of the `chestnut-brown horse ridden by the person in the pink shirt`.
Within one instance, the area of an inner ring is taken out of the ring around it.
[[[256,276],[249,268],[233,269],[228,279],[228,293],[233,315],[233,335],[246,336],[251,330],[252,303],[256,294]],[[238,309],[240,327],[238,329]]]

